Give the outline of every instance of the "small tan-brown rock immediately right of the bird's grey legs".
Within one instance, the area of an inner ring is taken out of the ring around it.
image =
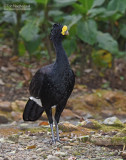
[[[59,129],[63,132],[72,132],[77,130],[77,127],[69,122],[61,122],[59,123]]]

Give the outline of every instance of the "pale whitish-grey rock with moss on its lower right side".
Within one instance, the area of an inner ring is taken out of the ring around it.
[[[117,127],[123,127],[123,123],[117,118],[117,117],[109,117],[109,118],[106,118],[104,121],[103,121],[103,124],[105,125],[111,125],[111,126],[117,126]]]

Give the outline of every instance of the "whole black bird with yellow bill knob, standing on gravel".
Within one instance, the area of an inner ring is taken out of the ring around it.
[[[31,97],[23,113],[24,121],[35,121],[44,111],[46,112],[51,127],[52,143],[60,141],[59,119],[75,83],[74,73],[62,46],[62,39],[68,34],[67,26],[53,25],[50,39],[55,47],[56,61],[40,68],[33,76],[29,87]],[[54,105],[56,106],[54,119],[57,139],[53,133],[52,106]]]

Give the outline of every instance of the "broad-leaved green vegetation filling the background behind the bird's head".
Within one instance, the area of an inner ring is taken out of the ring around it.
[[[82,68],[87,62],[111,68],[126,56],[126,0],[1,0],[0,9],[1,45],[10,41],[13,55],[53,61],[49,33],[62,23],[70,31],[65,50],[80,57]]]

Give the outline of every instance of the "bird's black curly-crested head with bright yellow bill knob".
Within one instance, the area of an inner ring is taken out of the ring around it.
[[[68,28],[66,25],[54,24],[50,33],[50,39],[62,40],[65,35],[69,35]]]

